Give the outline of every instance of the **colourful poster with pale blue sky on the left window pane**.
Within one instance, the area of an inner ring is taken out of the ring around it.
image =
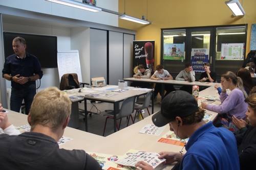
[[[163,59],[164,60],[184,60],[185,59],[185,44],[164,44]]]

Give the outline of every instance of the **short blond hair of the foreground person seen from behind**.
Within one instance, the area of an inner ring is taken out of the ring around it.
[[[55,131],[71,114],[69,96],[56,87],[39,91],[31,105],[31,130],[36,125],[46,126]]]

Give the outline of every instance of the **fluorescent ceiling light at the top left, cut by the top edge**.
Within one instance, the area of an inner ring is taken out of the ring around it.
[[[68,0],[45,0],[45,1],[53,2],[53,3],[57,3],[57,4],[62,4],[62,5],[67,5],[67,6],[70,6],[70,7],[75,7],[75,8],[79,8],[79,9],[83,9],[83,10],[87,10],[87,11],[92,11],[92,12],[101,11],[101,8],[93,7],[93,6],[86,5],[86,4],[79,3],[79,2],[75,2],[75,1],[68,1]]]

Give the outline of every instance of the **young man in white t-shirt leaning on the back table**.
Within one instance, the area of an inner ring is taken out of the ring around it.
[[[173,80],[174,78],[169,74],[169,72],[167,70],[163,69],[163,66],[161,64],[159,64],[156,67],[156,71],[155,71],[154,75],[152,75],[150,79],[152,79],[152,80]],[[167,94],[169,94],[169,92],[175,91],[175,88],[172,84],[164,84],[164,90],[166,91],[164,96],[166,96]],[[161,94],[161,91],[162,91],[162,85],[156,83],[155,91],[154,91],[154,99],[156,99],[156,96],[158,93]]]

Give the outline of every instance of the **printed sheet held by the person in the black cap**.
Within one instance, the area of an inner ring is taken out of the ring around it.
[[[125,165],[125,166],[134,166],[138,161],[144,161],[150,164],[153,168],[157,167],[159,164],[165,161],[165,159],[159,159],[160,155],[157,153],[150,152],[137,152],[131,154],[125,158],[122,158],[115,163]]]

